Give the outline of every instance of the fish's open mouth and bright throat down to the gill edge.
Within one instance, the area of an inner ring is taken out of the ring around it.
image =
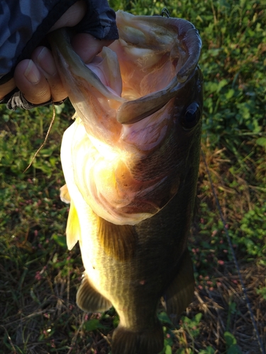
[[[119,40],[87,65],[66,33],[52,35],[79,117],[64,137],[71,146],[63,139],[62,165],[66,181],[72,176],[67,185],[77,185],[97,215],[135,224],[155,215],[179,188],[184,159],[180,154],[176,161],[173,147],[184,135],[180,112],[193,101],[201,39],[179,18],[118,11],[116,21]]]

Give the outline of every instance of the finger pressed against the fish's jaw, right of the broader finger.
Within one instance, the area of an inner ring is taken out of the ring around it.
[[[35,62],[40,72],[43,73],[45,79],[48,81],[52,101],[59,102],[64,100],[67,97],[67,92],[57,72],[52,52],[46,47],[38,47],[34,50],[31,59],[33,59],[33,62]]]

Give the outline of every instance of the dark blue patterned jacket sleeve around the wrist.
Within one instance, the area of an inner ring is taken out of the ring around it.
[[[98,39],[118,38],[116,14],[107,0],[86,0],[87,13],[76,26],[78,33],[90,33]],[[0,2],[0,85],[13,77],[18,62],[31,58],[31,53],[43,44],[45,35],[52,25],[77,0],[23,0]],[[8,108],[32,108],[21,101],[21,93],[15,89],[0,103]],[[48,102],[50,103],[50,101]],[[46,103],[46,104],[48,104]]]

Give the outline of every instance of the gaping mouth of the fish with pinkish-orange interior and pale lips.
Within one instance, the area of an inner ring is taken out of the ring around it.
[[[182,89],[192,76],[201,52],[201,38],[192,23],[181,18],[167,20],[118,11],[119,40],[104,47],[87,69],[70,43],[66,48],[52,45],[62,81],[65,83],[70,74],[87,81],[91,95],[95,89],[98,96],[107,99],[109,108],[116,108],[116,120],[121,124],[146,118]],[[62,30],[60,35],[64,37]],[[60,41],[65,43],[58,38],[57,43]],[[75,107],[74,87],[69,97]]]

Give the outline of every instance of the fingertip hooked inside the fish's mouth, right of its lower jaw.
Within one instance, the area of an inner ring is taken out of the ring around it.
[[[104,46],[108,47],[112,42],[113,40],[97,40],[89,33],[78,33],[72,39],[72,47],[79,57],[89,64]]]

